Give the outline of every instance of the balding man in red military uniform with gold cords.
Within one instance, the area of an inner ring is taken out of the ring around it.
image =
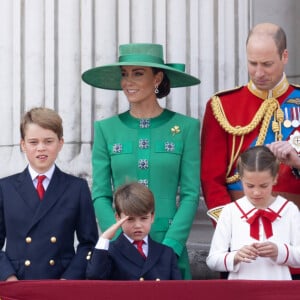
[[[299,174],[291,168],[300,144],[300,88],[284,73],[286,35],[275,24],[258,24],[248,35],[246,51],[249,83],[214,95],[203,120],[201,184],[214,222],[225,204],[243,196],[236,161],[254,145],[270,145],[284,162],[274,191],[300,207]]]

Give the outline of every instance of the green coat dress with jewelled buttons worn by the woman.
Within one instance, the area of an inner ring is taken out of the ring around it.
[[[127,111],[94,129],[92,196],[101,231],[115,223],[113,190],[144,183],[155,197],[150,235],[174,249],[183,278],[191,279],[186,241],[199,203],[199,120],[167,109],[152,119]]]

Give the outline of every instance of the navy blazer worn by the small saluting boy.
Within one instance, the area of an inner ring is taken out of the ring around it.
[[[87,279],[182,279],[173,249],[155,242],[150,236],[148,243],[146,259],[123,234],[110,242],[108,250],[94,249],[87,266]]]

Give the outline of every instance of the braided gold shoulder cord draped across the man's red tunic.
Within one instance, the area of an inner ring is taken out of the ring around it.
[[[230,157],[230,163],[227,168],[226,173],[226,183],[234,183],[239,180],[239,174],[236,173],[233,176],[229,177],[229,174],[231,172],[233,163],[238,158],[241,147],[244,141],[244,136],[248,133],[250,133],[252,130],[254,130],[258,124],[262,121],[262,125],[259,131],[259,135],[256,141],[256,145],[263,145],[268,127],[272,118],[272,115],[274,114],[274,121],[272,122],[272,130],[275,132],[276,141],[282,140],[282,134],[281,134],[281,124],[284,121],[284,114],[282,109],[280,108],[280,105],[276,98],[268,98],[263,100],[262,105],[260,106],[259,110],[253,117],[252,121],[246,125],[246,126],[235,126],[233,127],[223,110],[221,100],[218,96],[212,97],[211,102],[213,114],[221,127],[229,134],[233,135],[233,142],[232,142],[232,151],[231,151],[231,157]],[[236,136],[241,136],[240,144],[235,151],[235,141]]]

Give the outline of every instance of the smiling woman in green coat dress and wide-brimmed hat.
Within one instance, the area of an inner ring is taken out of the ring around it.
[[[191,279],[186,241],[199,202],[200,122],[162,108],[158,99],[200,80],[183,64],[165,64],[161,45],[126,44],[119,51],[117,63],[82,75],[94,87],[123,90],[130,107],[94,125],[92,196],[100,229],[115,222],[114,190],[144,183],[155,197],[150,235],[173,248],[183,278]]]

